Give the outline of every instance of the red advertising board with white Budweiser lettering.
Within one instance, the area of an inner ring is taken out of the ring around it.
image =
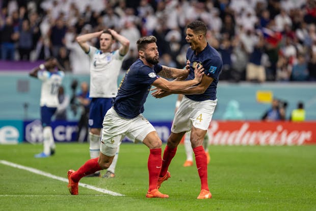
[[[207,133],[214,145],[316,144],[316,122],[212,121]]]

